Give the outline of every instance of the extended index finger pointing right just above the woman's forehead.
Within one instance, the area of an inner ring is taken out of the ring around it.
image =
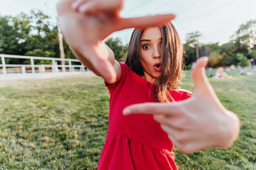
[[[145,16],[138,18],[122,18],[116,31],[128,28],[146,28],[149,26],[163,26],[175,18],[173,14]]]

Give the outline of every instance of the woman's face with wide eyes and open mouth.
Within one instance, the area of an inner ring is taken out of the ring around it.
[[[159,27],[145,29],[140,38],[140,62],[143,77],[154,83],[161,73],[162,31]]]

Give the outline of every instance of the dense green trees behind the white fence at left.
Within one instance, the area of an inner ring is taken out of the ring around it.
[[[50,24],[49,19],[48,15],[36,9],[30,15],[0,16],[0,53],[59,57],[57,26]],[[75,58],[67,43],[63,44],[66,58]],[[6,60],[6,64],[22,63],[25,64],[21,59]]]

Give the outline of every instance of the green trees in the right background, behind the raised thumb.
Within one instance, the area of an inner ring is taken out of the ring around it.
[[[198,31],[187,34],[184,44],[187,65],[196,60],[196,44],[200,44],[198,42],[201,35]],[[247,60],[237,57],[239,56],[237,54],[242,54],[248,59],[256,59],[256,20],[250,20],[240,25],[232,35],[230,42],[226,44],[200,44],[199,52],[200,56],[209,57],[209,66],[229,66],[231,64],[245,66]]]

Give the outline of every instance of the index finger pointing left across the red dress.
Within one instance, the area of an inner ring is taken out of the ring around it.
[[[124,108],[123,114],[164,114],[173,115],[180,113],[183,107],[180,107],[180,103],[173,104],[161,104],[161,103],[144,103],[144,104],[134,104]]]

